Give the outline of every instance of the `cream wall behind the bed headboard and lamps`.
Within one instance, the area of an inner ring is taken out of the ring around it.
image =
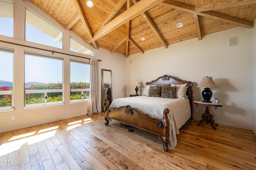
[[[252,129],[252,32],[236,27],[197,38],[130,55],[127,58],[127,92],[135,94],[136,80],[145,83],[163,76],[192,81],[193,100],[202,100],[203,88],[196,88],[204,76],[212,76],[219,88],[212,88],[212,98],[223,103],[211,109],[216,123]],[[239,45],[228,47],[228,39],[239,36]],[[130,64],[132,61],[132,64]],[[139,89],[142,94],[143,88]],[[196,108],[196,106],[193,106]],[[194,119],[200,119],[204,107],[198,106]],[[194,112],[194,109],[193,109]]]

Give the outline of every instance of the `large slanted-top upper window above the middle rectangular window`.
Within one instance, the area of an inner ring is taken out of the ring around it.
[[[62,49],[62,37],[62,31],[26,9],[26,41]]]

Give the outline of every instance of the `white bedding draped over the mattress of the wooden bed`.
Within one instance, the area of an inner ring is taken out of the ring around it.
[[[188,99],[170,99],[148,96],[136,96],[130,98],[119,98],[113,100],[110,107],[120,107],[130,105],[144,113],[148,113],[152,117],[162,119],[165,108],[170,110],[168,119],[170,121],[169,135],[171,148],[174,149],[177,145],[176,135],[179,134],[179,129],[190,118],[191,110]]]

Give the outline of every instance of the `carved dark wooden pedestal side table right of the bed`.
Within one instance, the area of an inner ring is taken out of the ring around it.
[[[210,114],[209,107],[212,106],[212,107],[215,107],[215,109],[217,109],[217,107],[222,107],[223,104],[222,103],[213,104],[213,103],[206,103],[206,102],[201,102],[201,101],[194,101],[194,104],[196,105],[196,107],[198,105],[205,106],[205,111],[201,115],[202,120],[200,120],[200,123],[198,123],[197,125],[200,126],[204,122],[206,122],[206,124],[210,123],[212,128],[215,130],[216,127],[214,127],[213,125],[218,126],[218,124],[214,123],[213,115]]]

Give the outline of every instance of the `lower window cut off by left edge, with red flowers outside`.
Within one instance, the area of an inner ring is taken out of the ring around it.
[[[0,109],[12,108],[13,49],[0,49]]]

